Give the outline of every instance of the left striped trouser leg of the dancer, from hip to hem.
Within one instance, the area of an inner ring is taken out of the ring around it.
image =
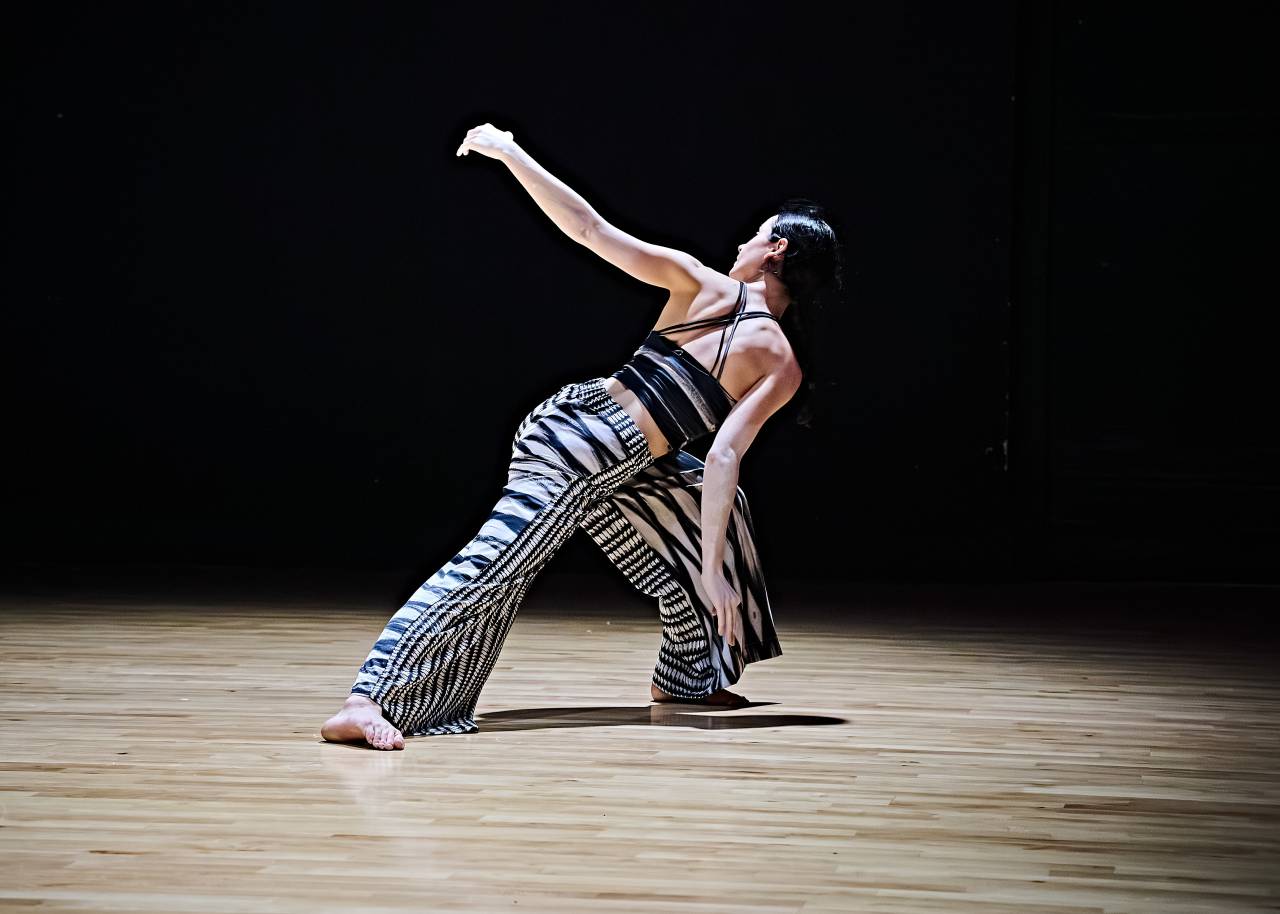
[[[529,585],[585,513],[652,462],[603,379],[543,401],[520,422],[489,518],[390,618],[352,694],[406,736],[479,730],[480,690]]]

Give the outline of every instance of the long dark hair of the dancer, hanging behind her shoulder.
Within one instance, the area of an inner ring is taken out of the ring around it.
[[[781,324],[804,373],[786,408],[795,411],[797,425],[812,428],[829,388],[836,385],[823,370],[824,334],[819,328],[828,305],[844,296],[845,257],[823,207],[804,197],[791,197],[778,207],[769,241],[778,238],[787,239],[778,279],[791,297]]]

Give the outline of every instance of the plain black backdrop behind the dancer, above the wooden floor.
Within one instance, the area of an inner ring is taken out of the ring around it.
[[[666,298],[456,157],[488,120],[723,270],[832,211],[838,401],[741,472],[776,575],[1272,573],[1261,5],[141,9],[8,29],[12,563],[452,556]]]

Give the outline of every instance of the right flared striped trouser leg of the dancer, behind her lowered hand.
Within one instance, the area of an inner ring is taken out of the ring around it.
[[[703,462],[684,451],[658,458],[602,499],[582,529],[640,593],[658,600],[662,644],[653,682],[701,698],[739,681],[748,663],[782,654],[741,488],[726,530],[724,563],[742,597],[742,643],[717,634],[701,584]]]

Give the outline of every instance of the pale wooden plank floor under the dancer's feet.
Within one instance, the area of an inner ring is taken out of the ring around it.
[[[714,712],[645,603],[543,597],[399,753],[317,734],[389,603],[5,598],[0,910],[1280,910],[1258,645],[852,604]]]

